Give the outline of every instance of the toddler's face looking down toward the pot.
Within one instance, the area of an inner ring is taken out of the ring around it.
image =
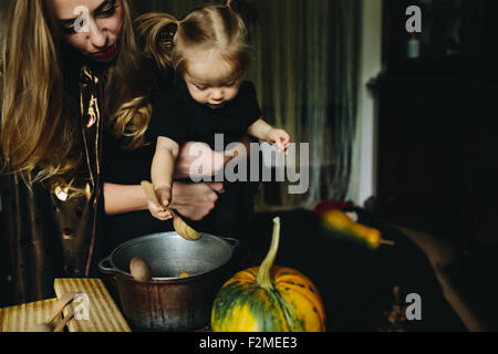
[[[239,93],[243,76],[235,75],[225,61],[212,55],[188,61],[184,75],[190,96],[212,110],[221,108]]]

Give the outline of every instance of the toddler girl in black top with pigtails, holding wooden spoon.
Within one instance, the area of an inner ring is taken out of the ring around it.
[[[183,20],[166,13],[137,19],[145,53],[165,70],[173,67],[183,81],[177,93],[156,97],[147,132],[148,138],[157,138],[152,181],[162,207],[170,202],[175,159],[185,142],[212,146],[215,134],[224,134],[227,144],[248,134],[280,152],[290,143],[287,132],[262,119],[256,90],[245,81],[248,33],[230,2],[198,8]],[[169,212],[163,210],[153,215],[169,219]]]

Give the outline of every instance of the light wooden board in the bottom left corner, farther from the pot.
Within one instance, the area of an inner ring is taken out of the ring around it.
[[[56,302],[56,299],[51,299],[0,309],[0,332],[25,332],[48,321]],[[55,319],[54,324],[56,325],[59,321],[61,316]]]

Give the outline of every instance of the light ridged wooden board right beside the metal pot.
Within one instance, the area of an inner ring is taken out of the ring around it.
[[[132,332],[100,279],[56,279],[58,298],[66,292],[83,294],[64,309],[64,316],[77,312],[68,324],[70,332]]]

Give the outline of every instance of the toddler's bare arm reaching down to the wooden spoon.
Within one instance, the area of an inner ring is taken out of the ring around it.
[[[162,207],[168,207],[172,201],[173,173],[178,152],[176,142],[162,136],[157,138],[151,177]]]

